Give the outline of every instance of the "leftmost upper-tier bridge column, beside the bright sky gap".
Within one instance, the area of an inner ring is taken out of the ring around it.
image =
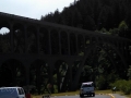
[[[10,24],[10,47],[11,52],[14,52],[13,23]]]

